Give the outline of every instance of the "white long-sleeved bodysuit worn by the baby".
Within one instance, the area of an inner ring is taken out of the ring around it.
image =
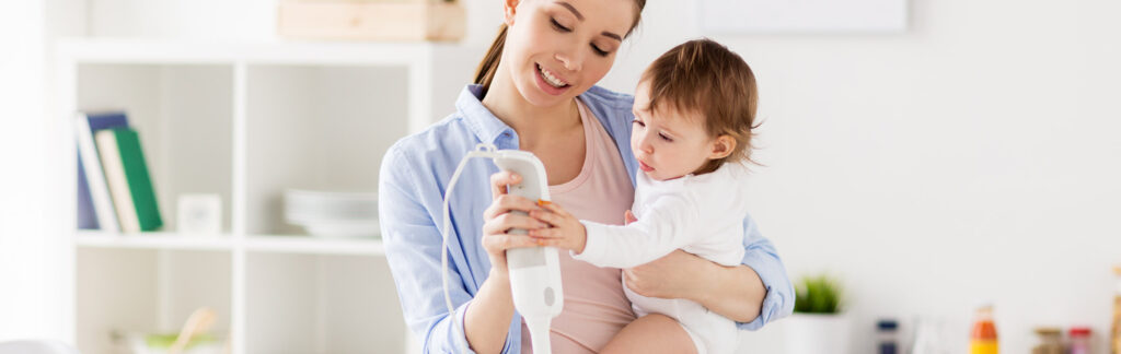
[[[743,259],[743,217],[748,215],[747,167],[724,164],[713,173],[654,180],[639,173],[626,226],[581,221],[587,230],[584,251],[573,258],[599,267],[629,268],[682,249],[721,266]],[[639,317],[663,314],[689,334],[698,354],[732,353],[735,323],[695,301],[638,295],[623,279],[623,292]]]

